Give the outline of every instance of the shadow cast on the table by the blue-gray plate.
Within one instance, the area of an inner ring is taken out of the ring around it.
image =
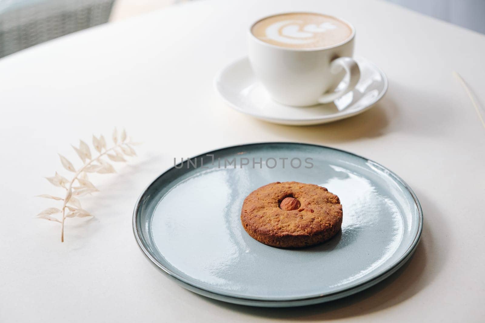
[[[426,195],[418,194],[418,197],[424,210],[425,222],[420,244],[413,257],[396,273],[365,291],[323,304],[287,308],[247,307],[199,297],[213,305],[247,315],[288,321],[335,320],[364,315],[397,305],[429,285],[446,262],[448,242],[445,241],[443,244],[443,241],[440,241],[438,249],[434,239],[437,234],[433,231],[433,226],[427,225],[439,221],[439,213]],[[440,231],[442,230],[441,226]],[[444,235],[446,235],[445,232],[440,232],[440,236]]]

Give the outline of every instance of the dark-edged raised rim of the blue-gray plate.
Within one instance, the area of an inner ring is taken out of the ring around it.
[[[414,191],[411,189],[411,187],[397,174],[395,174],[393,171],[388,169],[387,167],[383,166],[382,164],[372,161],[368,158],[365,158],[363,156],[357,155],[355,153],[339,149],[339,148],[334,148],[330,146],[325,146],[325,145],[316,145],[316,144],[307,144],[307,143],[299,143],[299,142],[255,142],[255,143],[248,143],[248,144],[240,144],[240,145],[230,145],[230,146],[225,146],[222,148],[217,148],[213,149],[207,152],[204,152],[202,154],[196,155],[193,158],[200,158],[203,157],[207,154],[210,153],[217,153],[217,152],[222,152],[224,150],[228,149],[233,149],[233,148],[238,148],[238,147],[244,147],[244,146],[264,146],[264,145],[303,145],[303,146],[311,146],[311,147],[317,147],[317,148],[325,148],[325,149],[330,149],[334,151],[338,151],[340,153],[345,153],[352,155],[354,157],[357,157],[359,159],[365,160],[365,161],[370,161],[374,165],[377,165],[379,167],[382,167],[386,171],[388,171],[389,175],[391,175],[395,180],[399,181],[404,188],[411,194],[413,197],[414,203],[418,209],[418,218],[419,218],[419,223],[418,223],[418,230],[416,232],[416,235],[412,241],[412,243],[409,245],[409,247],[406,249],[406,251],[403,253],[401,257],[399,257],[396,261],[394,261],[392,264],[388,266],[387,269],[385,269],[382,273],[380,273],[377,276],[374,276],[368,280],[362,281],[356,285],[351,285],[345,289],[338,290],[338,291],[332,291],[332,292],[327,292],[327,293],[320,293],[316,295],[308,295],[308,296],[298,296],[298,297],[260,297],[260,296],[245,296],[245,295],[239,295],[236,293],[230,293],[230,292],[225,292],[225,291],[217,291],[214,289],[210,289],[204,286],[201,286],[200,284],[194,283],[193,281],[190,281],[188,279],[185,279],[181,277],[180,275],[172,272],[170,269],[165,267],[162,263],[160,263],[158,260],[156,260],[148,251],[148,248],[146,248],[145,244],[142,242],[141,239],[141,233],[140,229],[137,225],[137,219],[138,219],[138,211],[141,208],[142,204],[141,201],[145,197],[148,189],[155,184],[159,178],[161,178],[163,175],[165,175],[168,171],[171,171],[175,169],[175,165],[168,167],[165,169],[159,176],[157,176],[154,180],[148,184],[145,189],[142,191],[142,193],[139,195],[135,207],[133,210],[133,216],[132,216],[132,229],[133,229],[133,234],[135,237],[135,240],[138,244],[138,247],[141,249],[143,254],[146,256],[146,258],[154,265],[157,267],[159,270],[162,271],[165,275],[168,275],[170,278],[174,279],[176,282],[180,283],[182,287],[194,291],[198,294],[230,302],[230,303],[235,303],[235,304],[242,304],[242,305],[252,305],[252,306],[263,306],[263,307],[277,307],[277,306],[300,306],[300,305],[309,305],[309,304],[317,304],[317,303],[323,303],[326,301],[338,299],[341,297],[345,297],[351,294],[354,294],[358,291],[365,290],[372,285],[377,284],[378,282],[384,280],[387,278],[389,275],[392,275],[395,271],[397,271],[404,263],[409,260],[409,258],[413,255],[414,251],[416,250],[416,247],[418,246],[422,234],[422,229],[423,229],[423,213],[421,209],[421,204],[420,201],[418,200],[418,197],[414,193]],[[182,163],[182,162],[180,162]],[[178,163],[178,164],[180,164]],[[178,165],[177,164],[177,165]],[[197,167],[198,168],[198,167]]]

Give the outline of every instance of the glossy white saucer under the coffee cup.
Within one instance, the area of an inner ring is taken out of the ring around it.
[[[261,120],[282,125],[317,125],[362,113],[372,107],[388,89],[386,75],[368,60],[356,57],[360,81],[356,88],[332,103],[292,107],[273,101],[256,79],[247,57],[224,67],[214,85],[233,109]]]

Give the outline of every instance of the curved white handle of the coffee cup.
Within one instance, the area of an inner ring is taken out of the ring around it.
[[[342,68],[345,70],[345,73],[350,76],[350,80],[347,83],[347,85],[335,92],[330,92],[330,93],[325,93],[323,94],[319,99],[319,103],[329,103],[332,102],[333,100],[343,96],[344,94],[352,91],[356,85],[357,82],[360,79],[360,69],[359,65],[357,64],[356,60],[354,60],[351,57],[339,57],[330,63],[330,73],[332,74],[338,74]]]

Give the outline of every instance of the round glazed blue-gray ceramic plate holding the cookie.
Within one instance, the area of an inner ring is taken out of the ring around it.
[[[340,197],[337,236],[279,249],[244,231],[246,195],[292,180]],[[344,297],[391,275],[419,242],[422,211],[406,183],[374,161],[318,145],[261,143],[214,150],[167,170],[138,199],[133,230],[146,257],[188,290],[288,307]]]

